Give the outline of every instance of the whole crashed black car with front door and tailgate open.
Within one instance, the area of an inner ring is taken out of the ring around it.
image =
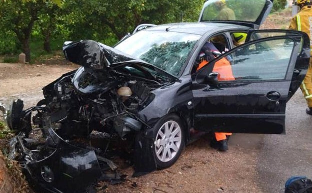
[[[92,131],[128,142],[135,175],[172,165],[198,131],[284,133],[286,102],[309,63],[308,36],[257,30],[271,1],[248,1],[252,17],[234,10],[231,21],[214,19],[215,2],[205,3],[198,23],[150,27],[113,48],[66,42],[64,56],[79,69],[45,86],[35,107],[23,110],[21,100],[0,105],[16,133],[9,156],[48,191],[74,192],[83,189],[75,184],[85,187],[102,175],[101,164],[115,169],[105,150],[76,143]],[[233,33],[246,33],[245,43],[235,47]],[[216,39],[223,54],[197,71],[202,46]],[[223,58],[233,80],[217,80],[213,66]],[[33,127],[43,141],[29,137]]]

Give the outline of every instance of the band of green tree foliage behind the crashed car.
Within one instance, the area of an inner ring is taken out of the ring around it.
[[[204,0],[4,0],[0,4],[0,54],[28,49],[29,58],[36,59],[47,54],[48,47],[53,52],[60,50],[64,41],[81,39],[112,46],[142,23],[196,22],[203,3]]]

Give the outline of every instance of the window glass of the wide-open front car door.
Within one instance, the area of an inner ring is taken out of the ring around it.
[[[231,53],[230,63],[234,80],[284,79],[292,49],[293,41],[291,39],[286,41],[277,39],[253,43],[236,50]],[[222,68],[221,66],[218,70],[213,69],[213,71],[222,72]],[[222,78],[224,75],[220,74],[219,76]],[[220,81],[222,80],[226,80],[226,77],[220,79]]]

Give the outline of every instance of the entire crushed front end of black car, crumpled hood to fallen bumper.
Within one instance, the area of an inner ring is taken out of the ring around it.
[[[154,100],[153,90],[176,79],[94,41],[71,43],[63,51],[81,67],[43,87],[44,99],[36,106],[23,110],[19,99],[0,103],[16,135],[9,158],[21,163],[28,181],[50,192],[83,192],[96,179],[111,179],[107,171],[116,165],[106,157],[115,142],[131,155],[134,176],[155,170],[154,139],[147,130],[164,114],[139,112]],[[93,132],[105,136],[99,139],[105,145],[92,144]]]

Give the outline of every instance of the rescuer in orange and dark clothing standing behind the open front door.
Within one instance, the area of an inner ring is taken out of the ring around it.
[[[211,42],[205,43],[199,53],[200,63],[198,64],[197,70],[207,65],[209,61],[219,55],[221,55],[221,53]],[[226,58],[216,61],[212,71],[218,73],[219,81],[234,80],[230,63]],[[232,133],[214,133],[210,146],[219,151],[226,151],[228,149],[227,140],[231,134]]]

